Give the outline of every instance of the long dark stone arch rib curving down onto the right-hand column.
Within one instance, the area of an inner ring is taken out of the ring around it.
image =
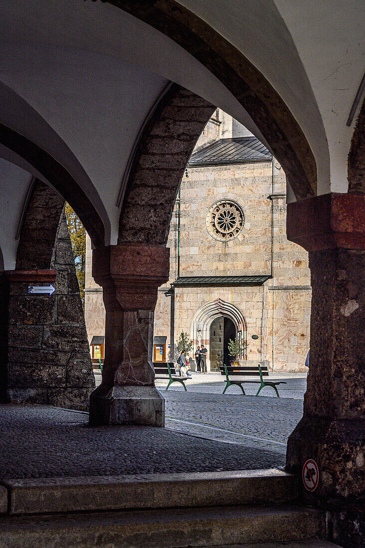
[[[296,198],[316,196],[317,165],[306,136],[282,97],[237,48],[175,0],[108,2],[164,33],[208,68],[265,136]]]

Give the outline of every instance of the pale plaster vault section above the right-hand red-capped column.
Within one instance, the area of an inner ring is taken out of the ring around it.
[[[346,192],[353,133],[346,120],[365,71],[365,2],[177,1],[246,55],[282,96],[315,155],[318,193]]]

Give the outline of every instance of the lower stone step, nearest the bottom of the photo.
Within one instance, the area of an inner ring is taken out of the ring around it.
[[[321,536],[317,510],[285,505],[0,518],[0,546],[6,548],[211,548]]]

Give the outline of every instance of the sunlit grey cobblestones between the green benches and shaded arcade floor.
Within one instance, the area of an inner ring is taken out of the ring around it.
[[[166,400],[166,427],[283,455],[288,436],[303,414],[301,399],[172,390],[161,393]]]

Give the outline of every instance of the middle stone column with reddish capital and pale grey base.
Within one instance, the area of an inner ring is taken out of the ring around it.
[[[102,384],[90,398],[89,423],[164,426],[165,400],[154,386],[153,317],[158,287],[169,279],[170,249],[122,243],[93,250],[103,287]]]

